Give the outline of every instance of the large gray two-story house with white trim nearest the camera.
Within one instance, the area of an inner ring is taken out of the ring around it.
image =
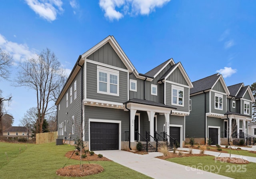
[[[108,36],[79,56],[56,101],[59,138],[74,141],[84,127],[89,150],[136,149],[146,132],[183,146],[192,87],[173,59],[138,73]]]

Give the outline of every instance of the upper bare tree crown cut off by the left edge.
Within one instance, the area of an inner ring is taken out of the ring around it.
[[[8,80],[12,62],[12,56],[0,48],[0,80],[1,78]]]

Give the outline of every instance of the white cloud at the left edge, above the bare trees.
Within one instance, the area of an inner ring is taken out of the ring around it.
[[[37,57],[37,51],[35,49],[30,50],[26,44],[18,44],[16,42],[8,41],[1,34],[0,48],[8,52],[10,55],[12,55],[15,61],[25,61],[29,58]]]

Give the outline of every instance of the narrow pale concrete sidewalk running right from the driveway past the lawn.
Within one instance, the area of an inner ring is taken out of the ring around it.
[[[246,148],[246,147],[244,147],[244,148]],[[179,147],[178,150],[189,151],[189,149],[185,148],[185,147]],[[200,153],[200,149],[192,149],[192,153]],[[216,157],[218,157],[218,156],[219,157],[229,157],[229,153],[221,153],[221,152],[214,152],[214,151],[207,151],[207,150],[204,151],[204,154],[212,155],[212,156],[216,156]],[[248,157],[248,156],[244,156],[244,155],[234,155],[234,154],[231,154],[231,157],[232,158],[242,158],[242,159],[248,160],[250,162],[256,163],[256,157]]]

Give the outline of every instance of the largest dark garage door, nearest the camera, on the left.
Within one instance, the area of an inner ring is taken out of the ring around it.
[[[90,122],[91,150],[118,150],[119,124]]]

